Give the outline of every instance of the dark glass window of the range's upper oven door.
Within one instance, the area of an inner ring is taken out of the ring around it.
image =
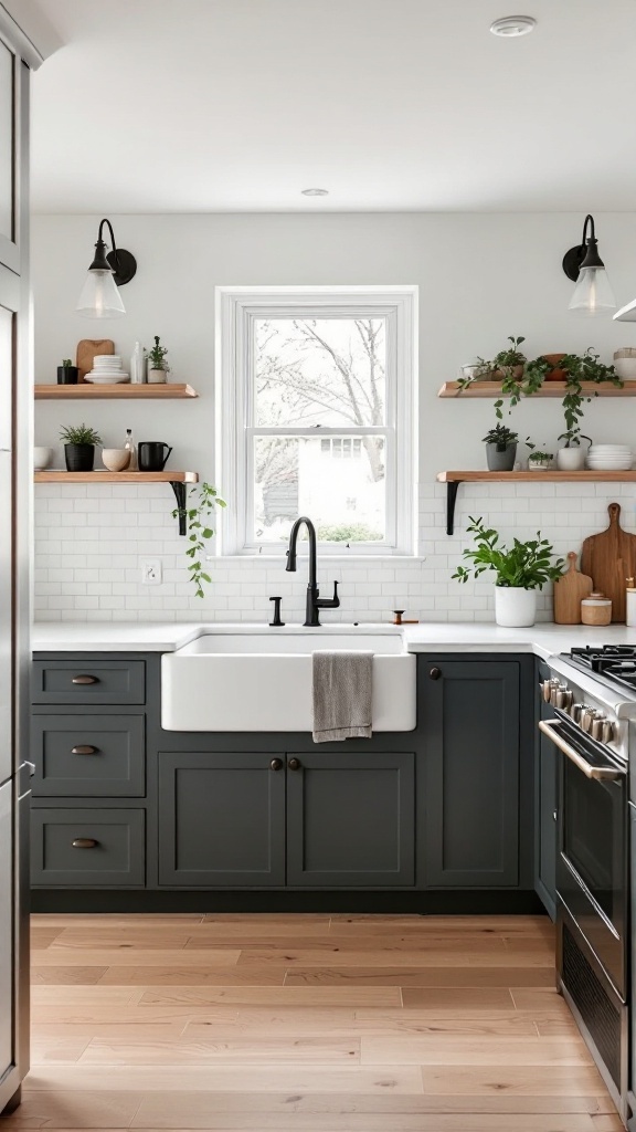
[[[624,797],[619,782],[587,779],[564,758],[562,854],[611,924],[622,883]]]

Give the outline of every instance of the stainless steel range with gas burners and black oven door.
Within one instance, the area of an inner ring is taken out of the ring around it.
[[[539,726],[562,755],[559,986],[627,1125],[636,1113],[629,910],[636,908],[636,645],[573,649],[549,668],[542,691],[553,718]]]

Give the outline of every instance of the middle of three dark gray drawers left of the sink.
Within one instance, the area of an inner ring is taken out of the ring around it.
[[[145,715],[33,715],[34,797],[143,797],[145,723]]]

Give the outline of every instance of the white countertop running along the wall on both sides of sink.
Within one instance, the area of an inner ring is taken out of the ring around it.
[[[343,624],[321,626],[328,638],[334,632],[398,633],[390,624],[361,623],[355,627]],[[208,625],[178,621],[46,621],[33,626],[34,652],[174,652],[204,633],[303,633],[302,626],[274,629],[259,623]],[[317,632],[317,631],[315,631]],[[609,625],[553,625],[542,621],[526,629],[506,629],[490,623],[456,621],[422,623],[405,626],[404,637],[410,652],[531,652],[543,660],[566,652],[573,645],[626,644],[636,642],[636,628]]]

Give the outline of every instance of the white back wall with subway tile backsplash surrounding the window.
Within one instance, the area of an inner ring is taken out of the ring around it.
[[[324,563],[320,577],[343,580],[338,615],[376,618],[394,606],[427,619],[491,618],[489,584],[450,582],[469,513],[484,514],[505,533],[539,524],[559,550],[577,549],[605,525],[605,506],[621,498],[624,525],[634,526],[631,486],[483,484],[462,490],[457,537],[444,533],[445,468],[482,468],[481,438],[495,423],[490,401],[440,401],[437,389],[474,354],[491,357],[508,334],[524,334],[528,357],[594,345],[611,361],[636,344],[636,327],[570,314],[573,284],[561,272],[565,250],[581,238],[583,216],[570,214],[342,214],[111,216],[118,241],[138,259],[123,290],[127,316],[88,321],[75,303],[100,217],[35,216],[33,278],[37,381],[54,380],[80,337],[112,336],[127,357],[136,338],[154,334],[170,349],[173,380],[188,380],[199,400],[183,402],[38,402],[36,443],[59,445],[62,423],[85,421],[108,445],[126,428],[137,440],[174,446],[173,468],[214,479],[214,288],[216,284],[412,284],[420,286],[420,551],[411,561]],[[636,295],[636,214],[596,215],[600,250],[620,305]],[[584,431],[598,441],[634,443],[636,398],[596,401]],[[519,406],[522,436],[556,446],[562,430],[558,401]],[[61,448],[58,449],[61,465]],[[218,484],[223,488],[223,484]],[[549,500],[549,506],[547,504]],[[230,500],[231,503],[231,500]],[[170,517],[169,488],[38,487],[36,600],[38,616],[260,619],[269,593],[283,593],[287,616],[302,608],[303,574],[290,581],[276,561],[220,561],[204,602],[189,598],[183,542]],[[141,538],[143,534],[143,538]],[[160,555],[165,584],[138,583],[139,556]],[[549,602],[543,603],[549,616]]]

